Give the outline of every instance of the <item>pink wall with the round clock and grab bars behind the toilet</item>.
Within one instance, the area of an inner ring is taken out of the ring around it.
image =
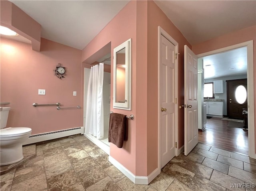
[[[66,67],[64,79],[54,75],[58,63]],[[39,134],[82,126],[83,109],[32,106],[34,102],[82,106],[80,50],[42,38],[37,52],[30,44],[1,38],[0,72],[1,102],[11,103],[8,127],[30,127],[32,134]],[[38,95],[38,89],[46,89],[46,95]]]

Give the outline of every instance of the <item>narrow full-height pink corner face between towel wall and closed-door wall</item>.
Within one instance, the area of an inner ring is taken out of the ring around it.
[[[137,1],[136,9],[136,176],[147,176],[152,171],[148,171],[148,124],[147,124],[147,65],[148,65],[148,2]],[[134,85],[134,83],[132,83]],[[132,90],[134,91],[134,90]],[[132,101],[134,97],[132,97]],[[157,145],[152,149],[155,150]],[[157,155],[157,154],[156,154]],[[154,168],[155,167],[155,168]],[[156,166],[152,168],[156,169]]]

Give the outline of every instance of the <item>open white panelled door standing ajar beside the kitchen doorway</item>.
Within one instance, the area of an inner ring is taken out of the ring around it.
[[[198,63],[196,55],[184,45],[184,154],[198,143]]]

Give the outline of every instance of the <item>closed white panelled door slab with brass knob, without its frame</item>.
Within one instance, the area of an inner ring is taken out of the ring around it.
[[[161,168],[175,156],[176,46],[160,37],[160,154]]]

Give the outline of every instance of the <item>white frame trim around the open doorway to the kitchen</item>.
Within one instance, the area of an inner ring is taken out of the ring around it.
[[[247,47],[247,79],[250,83],[247,83],[248,90],[248,140],[249,140],[249,156],[256,159],[255,154],[255,124],[254,124],[254,69],[253,69],[253,40],[243,43],[235,44],[232,46],[216,49],[213,51],[198,54],[198,58],[221,53],[224,51],[230,51],[232,49]],[[251,128],[250,128],[251,127]],[[253,128],[254,127],[254,128]]]

